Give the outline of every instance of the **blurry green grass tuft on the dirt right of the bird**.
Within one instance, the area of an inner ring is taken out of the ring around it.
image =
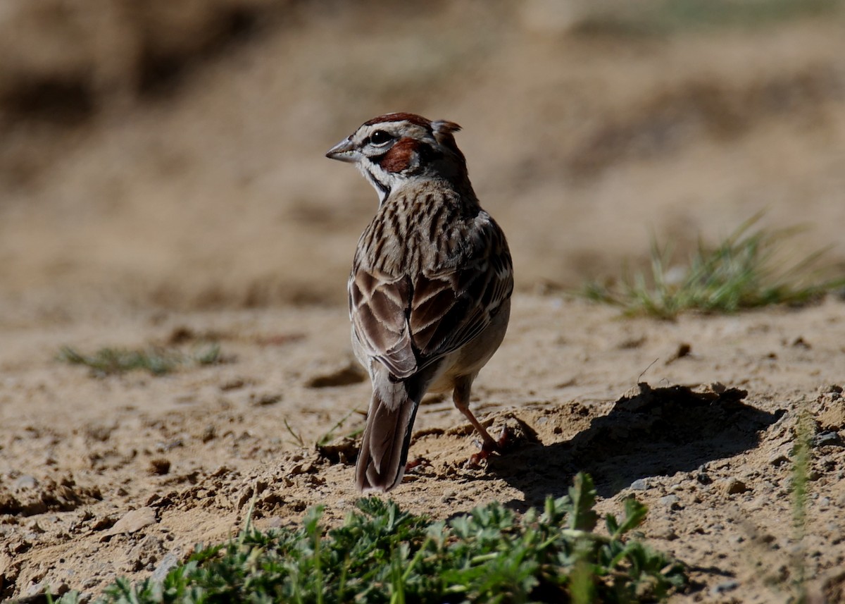
[[[782,243],[794,229],[755,229],[760,215],[744,222],[715,249],[699,244],[685,266],[671,246],[651,244],[651,274],[624,275],[613,285],[587,283],[587,299],[620,306],[627,315],[673,319],[690,310],[731,313],[768,305],[803,305],[845,286],[845,277],[814,280],[820,250],[791,266],[776,266]]]

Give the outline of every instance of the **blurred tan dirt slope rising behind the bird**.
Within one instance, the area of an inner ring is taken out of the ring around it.
[[[342,305],[377,206],[324,158],[463,126],[521,291],[755,212],[845,244],[838,0],[3,0],[0,326]]]

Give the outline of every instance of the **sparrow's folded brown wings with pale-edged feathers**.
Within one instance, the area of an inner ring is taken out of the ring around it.
[[[471,341],[488,327],[514,288],[508,244],[481,212],[461,241],[422,272],[394,277],[356,261],[349,316],[368,356],[397,379]]]

